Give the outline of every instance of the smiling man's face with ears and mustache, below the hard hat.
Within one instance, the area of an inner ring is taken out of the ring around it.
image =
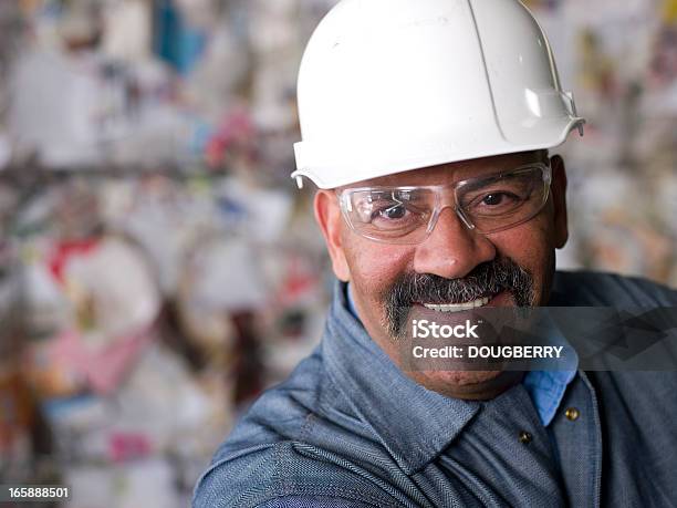
[[[320,190],[315,215],[355,315],[395,363],[413,305],[543,305],[566,232],[560,157],[519,153],[435,166]],[[406,196],[405,196],[406,195]],[[480,232],[482,230],[483,232]],[[515,372],[414,371],[460,398],[491,398]]]

